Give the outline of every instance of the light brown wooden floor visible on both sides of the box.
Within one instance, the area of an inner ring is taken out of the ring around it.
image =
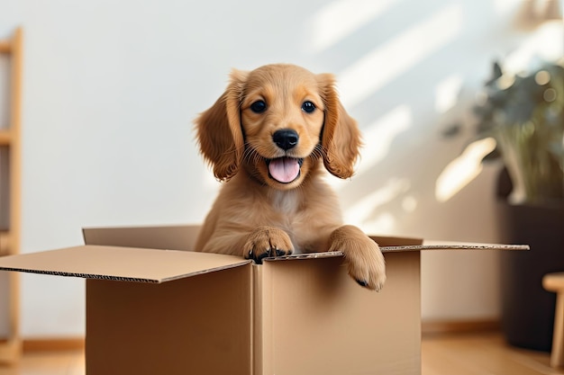
[[[497,333],[423,337],[422,375],[557,375],[550,355],[507,346]],[[84,375],[84,353],[26,353],[0,375]]]

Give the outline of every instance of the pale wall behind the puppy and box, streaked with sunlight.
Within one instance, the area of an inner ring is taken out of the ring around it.
[[[366,135],[359,174],[335,183],[350,221],[495,241],[495,171],[447,203],[434,187],[464,141],[441,129],[468,113],[493,58],[527,37],[514,28],[521,3],[0,0],[0,37],[25,32],[22,250],[80,244],[88,226],[201,221],[218,184],[191,121],[231,67],[270,62],[340,79]],[[496,262],[425,254],[423,317],[496,317]],[[83,281],[23,275],[22,305],[27,337],[84,333]]]

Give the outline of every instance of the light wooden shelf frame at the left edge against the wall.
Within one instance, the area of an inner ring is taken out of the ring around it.
[[[0,255],[17,254],[20,249],[21,225],[21,121],[22,121],[22,54],[23,31],[18,28],[9,40],[0,40],[0,56],[10,61],[8,102],[8,124],[0,124],[0,210],[3,217],[0,228]],[[7,169],[7,170],[5,170]],[[6,181],[7,180],[7,181]],[[20,337],[19,311],[19,275],[10,272],[7,276],[9,293],[7,313],[9,332],[7,337],[0,337],[0,363],[14,363],[22,353]],[[5,300],[0,301],[4,305]]]

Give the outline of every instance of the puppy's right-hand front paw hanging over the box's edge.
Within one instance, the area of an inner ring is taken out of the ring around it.
[[[350,277],[360,286],[379,291],[386,282],[386,263],[377,243],[359,228],[343,226],[332,232],[329,251],[341,251]]]

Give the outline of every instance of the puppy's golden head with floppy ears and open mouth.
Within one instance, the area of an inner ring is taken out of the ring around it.
[[[353,174],[359,130],[343,109],[332,75],[293,65],[233,70],[214,105],[196,119],[200,151],[215,177],[244,168],[279,190],[304,181],[317,160],[340,178]]]

